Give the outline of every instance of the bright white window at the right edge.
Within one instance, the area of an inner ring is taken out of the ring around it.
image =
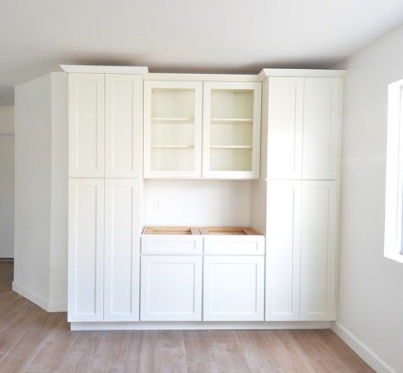
[[[403,80],[388,88],[385,256],[403,263]]]

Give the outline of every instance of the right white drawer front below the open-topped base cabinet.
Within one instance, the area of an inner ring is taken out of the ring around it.
[[[264,237],[229,235],[204,237],[204,254],[264,255]]]

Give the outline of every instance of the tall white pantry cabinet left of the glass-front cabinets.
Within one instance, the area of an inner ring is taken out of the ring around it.
[[[69,74],[69,321],[139,320],[142,75]]]

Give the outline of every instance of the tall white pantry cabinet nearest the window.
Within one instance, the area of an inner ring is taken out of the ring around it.
[[[334,320],[341,78],[270,77],[263,89],[266,320]]]

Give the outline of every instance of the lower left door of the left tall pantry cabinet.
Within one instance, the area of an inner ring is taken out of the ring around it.
[[[69,180],[69,321],[104,320],[104,180]]]

